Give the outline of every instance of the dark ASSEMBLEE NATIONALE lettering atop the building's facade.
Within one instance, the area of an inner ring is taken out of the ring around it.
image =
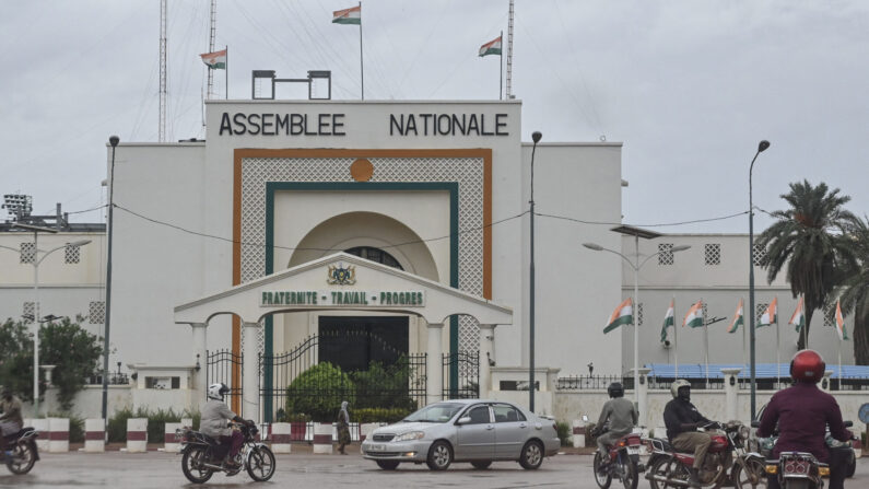
[[[219,136],[347,136],[345,114],[230,114]],[[389,114],[389,136],[509,136],[507,114]]]

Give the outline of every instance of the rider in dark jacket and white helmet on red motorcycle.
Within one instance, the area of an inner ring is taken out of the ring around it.
[[[667,426],[667,438],[670,444],[680,452],[694,452],[694,465],[691,467],[689,486],[700,487],[700,470],[703,459],[712,443],[712,435],[697,428],[715,424],[697,411],[691,404],[691,383],[678,379],[670,384],[670,394],[673,398],[664,408],[664,423]]]

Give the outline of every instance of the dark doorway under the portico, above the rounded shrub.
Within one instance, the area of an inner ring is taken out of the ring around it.
[[[320,316],[319,361],[341,370],[385,366],[408,354],[408,316]]]

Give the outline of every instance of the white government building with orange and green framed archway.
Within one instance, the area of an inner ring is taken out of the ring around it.
[[[479,351],[480,395],[527,405],[532,182],[538,406],[556,409],[555,379],[589,364],[595,374],[631,374],[633,328],[602,328],[632,295],[633,269],[583,247],[634,256],[634,237],[611,231],[625,185],[621,143],[544,135],[535,149],[522,141],[536,128],[522,128],[516,100],[210,101],[207,109],[204,141],[121,141],[114,175],[107,147],[116,206],[109,364],[137,373],[139,391],[178,391],[161,403],[186,407],[207,382],[256,385],[234,408],[268,419],[279,401],[259,388],[289,380],[258,375],[255,359],[318,337],[319,360],[345,368],[427,353],[425,400],[471,379],[465,366],[442,368],[443,354]],[[22,251],[0,249],[0,315],[17,318],[33,307],[33,266],[22,258],[33,233],[0,226],[0,246]],[[39,248],[82,238],[91,243],[75,260],[62,251],[45,259],[40,312],[82,314],[102,335],[105,232],[72,225],[40,234]],[[679,245],[691,248],[670,252]],[[742,334],[726,329],[740,298],[748,311],[748,236],[676,234],[639,246],[642,258],[660,252],[639,272],[641,363],[678,354],[681,365],[698,365],[707,351],[712,363],[743,363]],[[755,271],[758,304],[778,298],[787,362],[796,300],[783,277],[767,284]],[[698,300],[707,319],[725,319],[707,337],[679,327],[677,352],[659,339],[671,299],[677,326]],[[810,346],[833,365],[838,340],[823,322],[817,312]],[[774,327],[758,330],[758,362],[776,361],[775,338]],[[210,369],[207,352],[221,349],[244,353],[245,368]],[[849,342],[842,359],[853,364]]]

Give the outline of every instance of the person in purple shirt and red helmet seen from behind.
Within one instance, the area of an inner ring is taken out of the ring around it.
[[[809,452],[820,462],[830,464],[830,489],[842,489],[845,482],[846,459],[834,452],[831,456],[824,436],[826,427],[838,441],[849,441],[836,399],[818,388],[826,363],[814,350],[798,351],[790,361],[790,379],[795,384],[773,395],[763,411],[758,436],[773,434],[778,424],[778,441],[773,456],[782,452]],[[768,488],[777,489],[778,476],[768,477]]]

